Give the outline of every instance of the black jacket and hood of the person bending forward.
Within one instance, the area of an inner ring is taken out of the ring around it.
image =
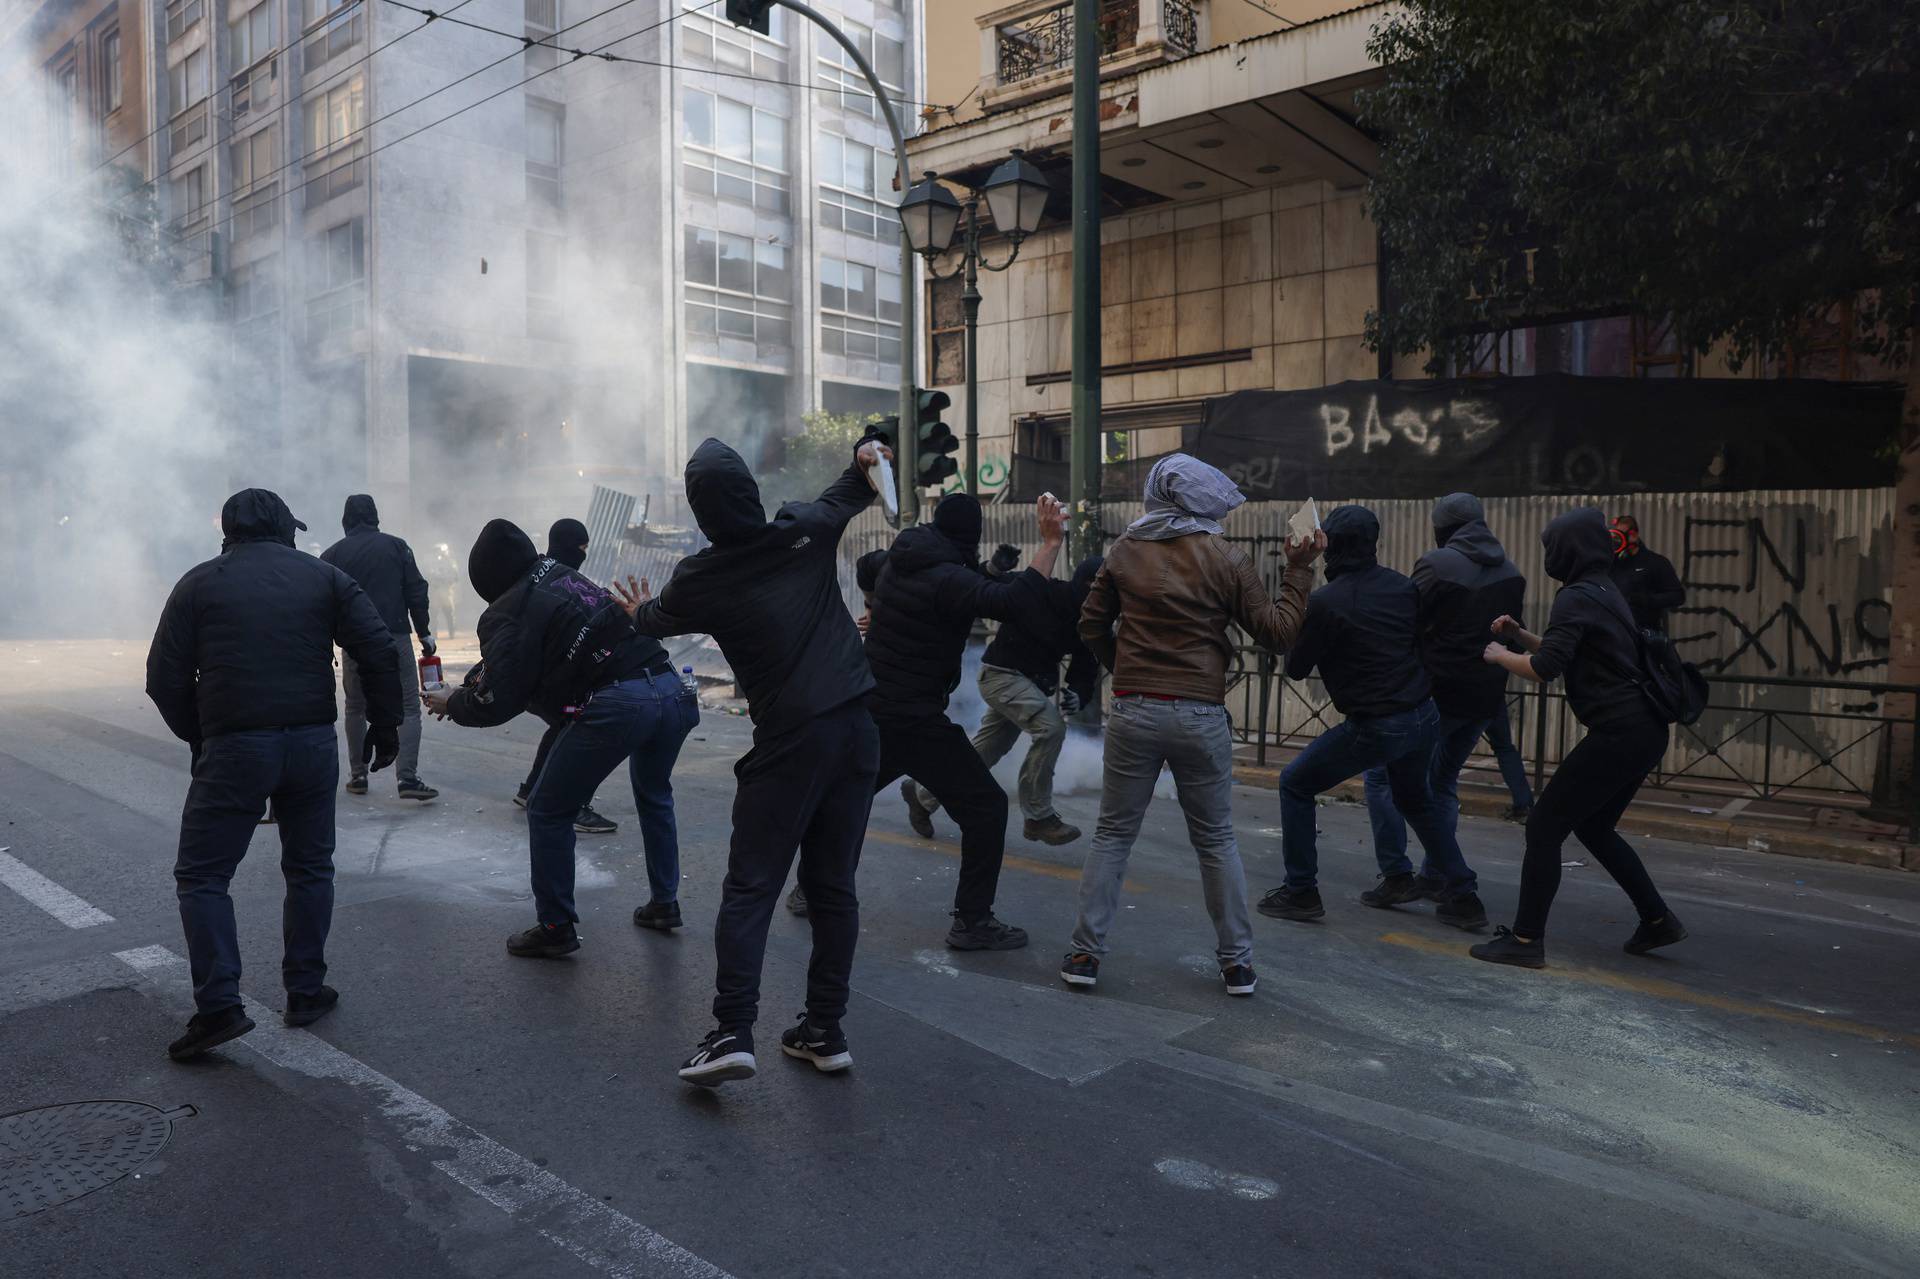
[[[488,609],[474,626],[480,676],[447,703],[455,724],[492,728],[522,711],[551,724],[603,684],[668,668],[607,590],[540,555],[509,520],[480,530],[467,576]]]

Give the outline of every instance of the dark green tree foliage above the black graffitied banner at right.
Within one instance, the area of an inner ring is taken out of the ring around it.
[[[1738,365],[1857,300],[1859,350],[1905,359],[1914,0],[1404,0],[1371,52],[1375,348],[1438,367],[1465,334],[1630,309]]]

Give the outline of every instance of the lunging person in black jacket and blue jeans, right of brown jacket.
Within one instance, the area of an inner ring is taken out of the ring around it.
[[[1327,914],[1319,895],[1319,845],[1313,797],[1369,768],[1386,768],[1394,807],[1405,814],[1442,880],[1438,918],[1455,928],[1484,928],[1486,906],[1475,874],[1459,853],[1453,824],[1432,793],[1432,755],[1440,712],[1415,651],[1419,591],[1377,563],[1380,520],[1365,507],[1327,515],[1327,586],[1308,597],[1300,640],[1286,653],[1286,678],[1304,680],[1319,666],[1327,695],[1346,716],[1317,736],[1281,772],[1281,851],[1286,883],[1269,891],[1260,912],[1283,920]],[[1380,885],[1361,893],[1369,906],[1407,901],[1413,880],[1405,851],[1398,858],[1375,847]]]

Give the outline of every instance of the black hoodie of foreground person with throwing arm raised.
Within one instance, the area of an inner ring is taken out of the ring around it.
[[[874,688],[839,590],[839,540],[874,501],[860,469],[772,520],[739,453],[707,440],[687,503],[712,545],[674,568],[634,618],[643,636],[712,636],[747,695],[756,737],[791,732]]]

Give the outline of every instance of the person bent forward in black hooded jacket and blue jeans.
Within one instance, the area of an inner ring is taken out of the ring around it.
[[[507,953],[553,958],[580,949],[574,924],[574,816],[622,760],[634,782],[647,880],[678,922],[680,843],[668,782],[680,745],[699,722],[666,651],[634,634],[605,590],[534,551],[509,520],[490,520],[467,555],[488,601],[476,626],[480,674],[426,693],[426,709],[468,728],[532,711],[561,732],[534,780],[526,843],[540,920],[507,939]]]

